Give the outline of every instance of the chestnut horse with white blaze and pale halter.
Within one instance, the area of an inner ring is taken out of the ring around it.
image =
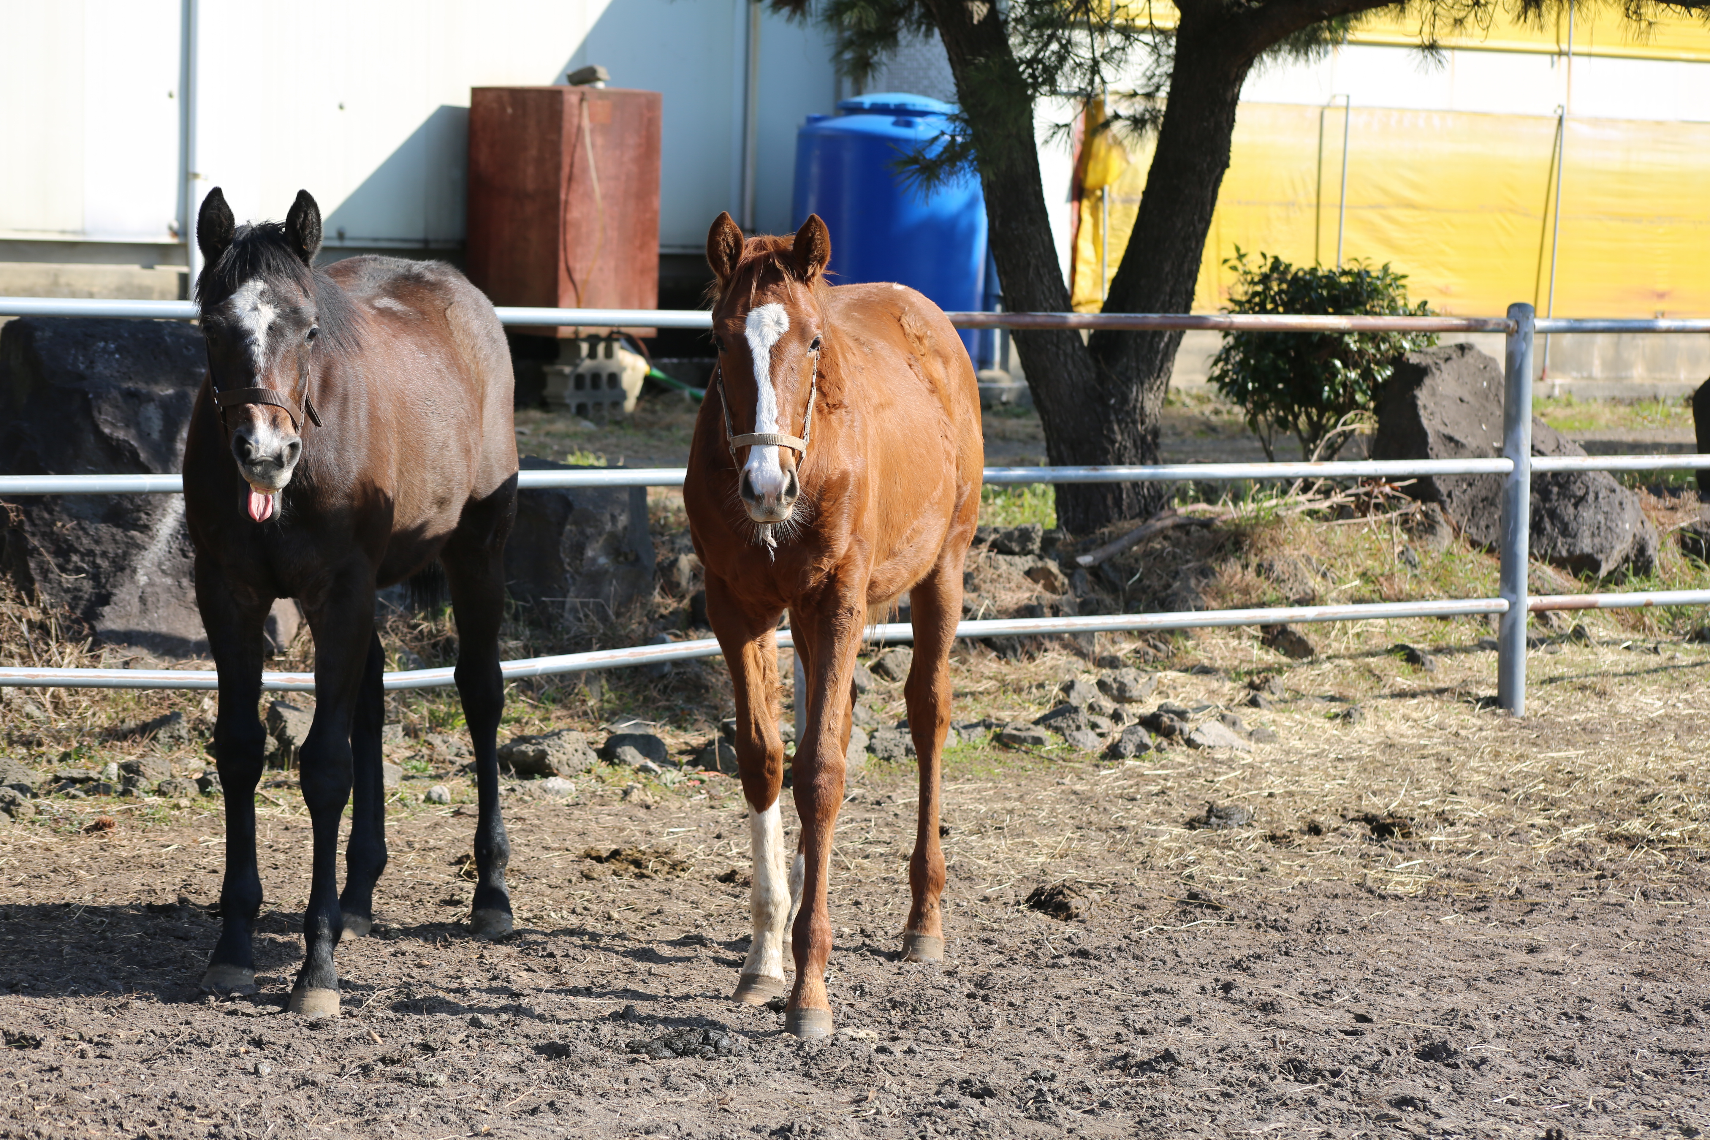
[[[783,993],[788,945],[795,988],[785,1027],[821,1037],[831,1032],[826,885],[855,655],[867,614],[905,593],[915,626],[905,692],[920,808],[903,957],[944,954],[939,759],[963,561],[985,465],[980,390],[961,338],[923,296],[903,285],[826,284],[831,234],[817,215],[793,241],[744,241],[720,214],[706,260],[716,275],[718,374],[689,444],[684,504],[706,569],[706,615],[735,684],[737,764],[754,849],[754,942],[735,1000]],[[807,723],[797,725],[793,761],[802,837],[788,872],[775,638],[785,610],[807,679]]]

